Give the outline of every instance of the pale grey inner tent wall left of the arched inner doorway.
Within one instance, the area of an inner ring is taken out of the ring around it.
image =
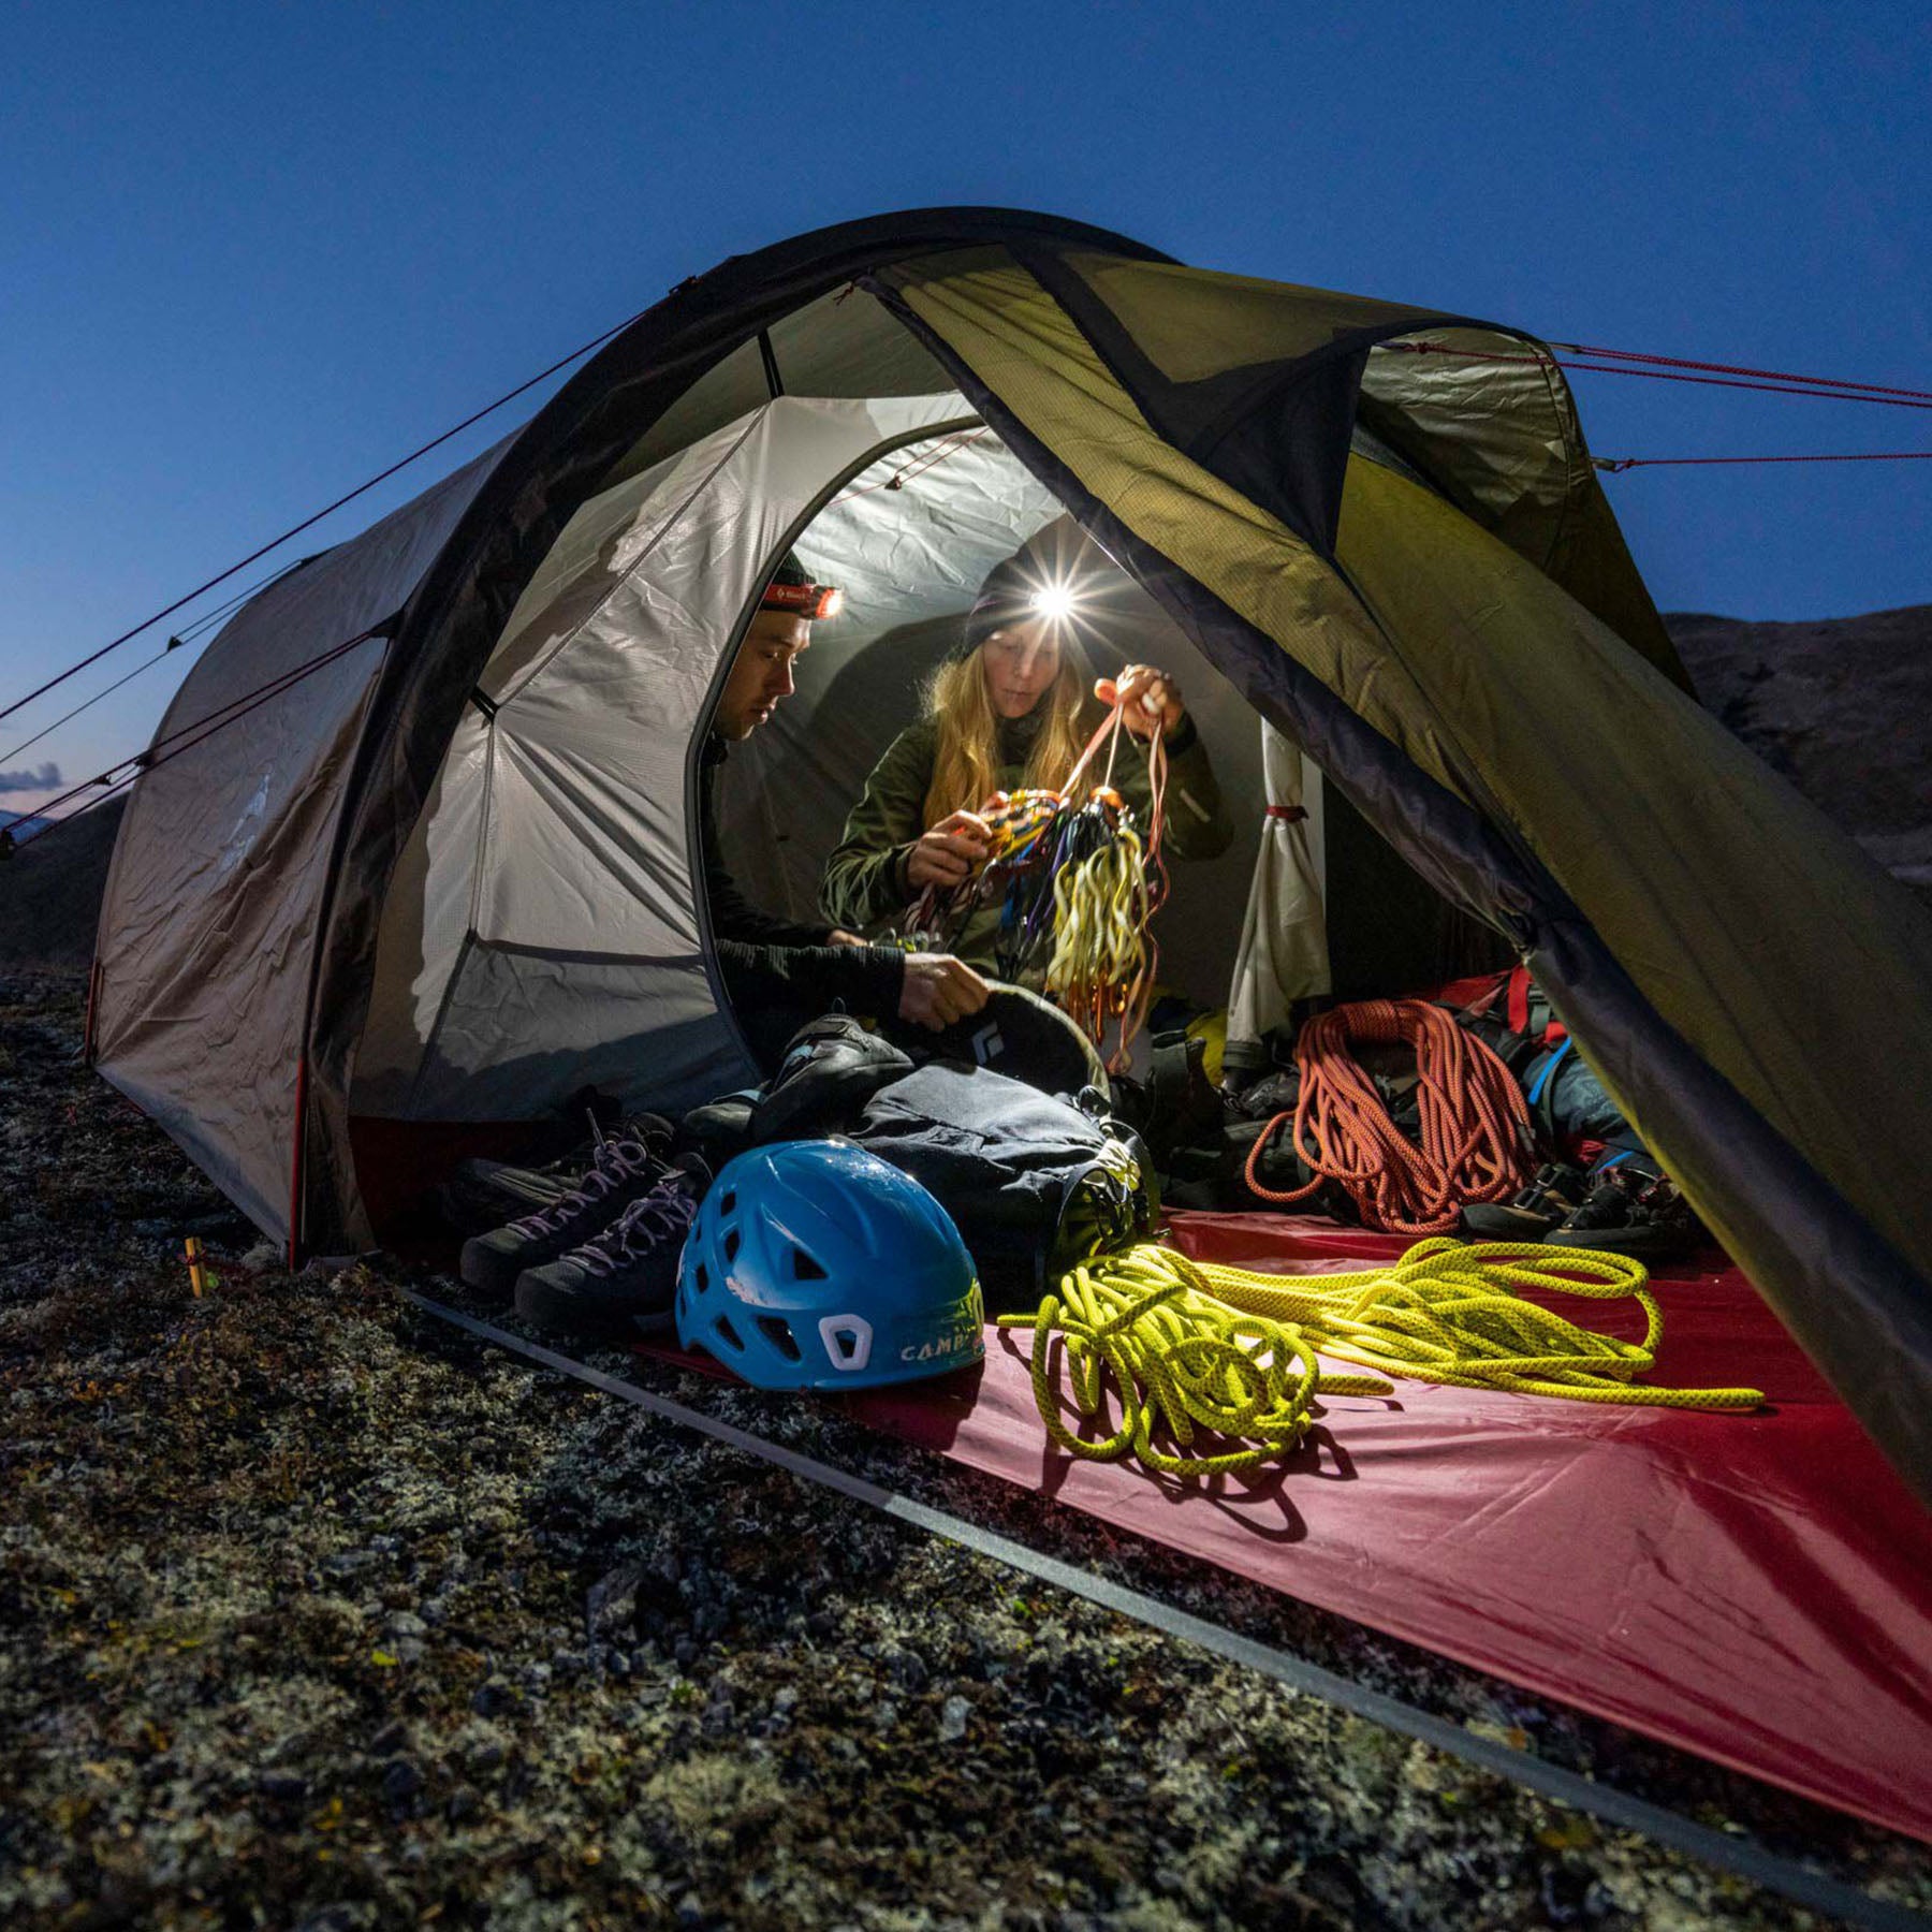
[[[591,498],[510,616],[390,893],[354,1109],[500,1121],[752,1068],[705,970],[684,771],[771,558],[958,396],[781,396]]]

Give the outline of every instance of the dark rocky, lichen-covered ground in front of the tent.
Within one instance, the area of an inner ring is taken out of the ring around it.
[[[79,991],[0,972],[10,1928],[1820,1924],[533,1374],[386,1265],[284,1273],[77,1065]],[[599,1360],[1932,1907],[1924,1847],[815,1405]]]

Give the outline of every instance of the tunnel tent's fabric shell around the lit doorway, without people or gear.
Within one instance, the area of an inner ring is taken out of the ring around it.
[[[160,736],[232,728],[122,827],[106,1078],[292,1248],[371,1238],[388,1182],[473,1146],[471,1082],[524,1113],[566,1061],[622,1057],[636,1099],[740,1078],[694,887],[709,703],[782,549],[960,423],[1507,935],[1932,1486],[1932,922],[1687,694],[1553,357],[1045,216],[734,257],[245,605]],[[361,1082],[408,1117],[359,1115]]]

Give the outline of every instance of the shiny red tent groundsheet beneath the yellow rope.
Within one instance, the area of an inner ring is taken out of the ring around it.
[[[1298,1215],[1173,1225],[1190,1254],[1277,1273],[1406,1246]],[[1053,1449],[1030,1339],[1005,1331],[978,1376],[846,1401],[1115,1528],[1932,1839],[1932,1519],[1737,1269],[1658,1287],[1656,1379],[1760,1387],[1768,1412],[1399,1383],[1327,1401],[1260,1482],[1175,1482]]]

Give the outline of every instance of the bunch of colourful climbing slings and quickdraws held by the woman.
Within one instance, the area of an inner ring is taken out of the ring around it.
[[[999,902],[999,976],[1020,980],[1043,966],[1047,997],[1095,1047],[1119,1024],[1109,1072],[1130,1065],[1134,1037],[1153,1001],[1159,947],[1150,927],[1167,898],[1161,862],[1165,732],[1155,724],[1148,738],[1146,835],[1134,808],[1113,788],[1113,763],[1124,736],[1124,709],[1115,705],[1061,790],[995,792],[980,811],[991,831],[985,866],[951,891],[927,887],[902,927],[908,939],[949,951],[980,906]],[[1086,773],[1101,748],[1107,765],[1094,782]]]

